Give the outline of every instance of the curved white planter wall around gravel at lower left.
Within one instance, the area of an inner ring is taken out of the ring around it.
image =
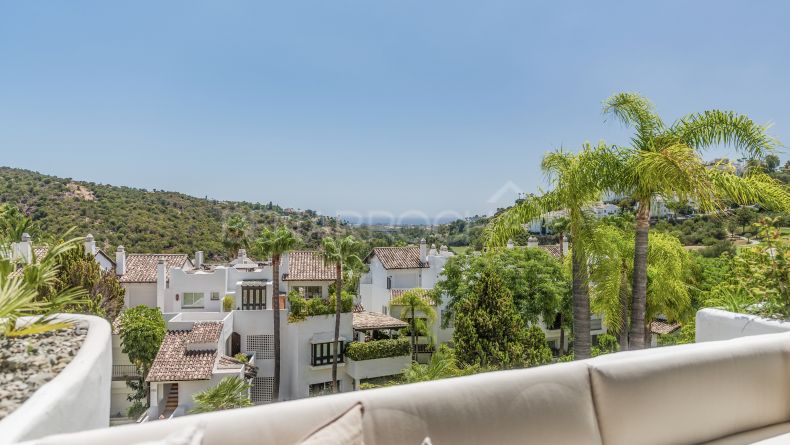
[[[0,421],[0,444],[105,428],[110,424],[110,324],[90,315],[66,314],[59,318],[87,325],[85,341],[57,377]]]

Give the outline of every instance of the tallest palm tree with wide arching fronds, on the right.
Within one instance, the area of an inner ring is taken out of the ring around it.
[[[780,208],[788,200],[781,196],[781,190],[777,193],[776,184],[765,175],[757,173],[742,181],[727,171],[708,168],[700,157],[706,148],[729,145],[756,158],[778,145],[768,135],[766,126],[757,125],[746,116],[710,110],[687,115],[667,126],[653,104],[635,93],[615,94],[604,101],[603,110],[635,129],[631,145],[625,149],[630,155],[628,161],[623,164],[621,175],[616,176],[622,183],[612,189],[637,203],[629,347],[641,349],[645,346],[651,202],[658,196],[693,200],[703,210],[711,211],[721,206],[725,196],[743,204],[748,203],[743,202],[745,198],[755,198],[759,203]]]

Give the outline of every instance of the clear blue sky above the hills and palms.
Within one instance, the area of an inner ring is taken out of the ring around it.
[[[788,143],[788,16],[781,1],[3,0],[0,164],[325,214],[486,212],[541,186],[546,150],[626,143],[600,111],[617,91],[665,120],[734,109]]]

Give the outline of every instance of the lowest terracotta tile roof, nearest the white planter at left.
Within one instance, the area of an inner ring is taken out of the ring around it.
[[[187,351],[190,331],[168,331],[156,353],[146,381],[179,382],[208,380],[214,370],[217,351]]]

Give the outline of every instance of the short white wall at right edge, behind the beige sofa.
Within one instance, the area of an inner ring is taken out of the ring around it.
[[[700,310],[697,312],[696,323],[697,343],[790,331],[790,321],[772,320],[721,309]]]

